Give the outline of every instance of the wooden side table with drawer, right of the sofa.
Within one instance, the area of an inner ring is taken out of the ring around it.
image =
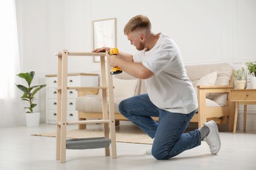
[[[238,121],[238,105],[244,105],[244,132],[245,132],[247,105],[256,105],[256,89],[231,90],[230,101],[236,102],[233,133],[236,133],[236,124]]]

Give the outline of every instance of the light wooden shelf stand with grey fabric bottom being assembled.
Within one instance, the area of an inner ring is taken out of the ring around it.
[[[56,120],[56,160],[66,162],[66,149],[87,149],[87,148],[105,148],[105,155],[116,158],[116,129],[114,118],[114,97],[113,97],[113,81],[110,75],[110,66],[106,57],[108,52],[58,52],[58,88],[57,88],[57,120]],[[68,76],[68,57],[69,56],[90,56],[100,57],[100,78],[101,84],[97,87],[67,87]],[[107,66],[106,66],[107,65]],[[84,90],[102,90],[102,120],[77,120],[67,121],[67,90],[84,89]],[[108,99],[107,99],[108,95]],[[72,124],[103,124],[104,137],[93,139],[66,139],[66,126]],[[110,144],[111,143],[111,144]],[[110,145],[110,146],[109,146]]]

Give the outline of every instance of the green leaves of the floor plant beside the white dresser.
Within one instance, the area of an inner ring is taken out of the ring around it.
[[[24,107],[24,109],[28,109],[27,113],[32,113],[33,108],[37,105],[33,103],[35,100],[35,93],[37,93],[41,88],[44,88],[46,84],[31,86],[33,76],[35,75],[35,71],[31,71],[30,73],[20,73],[17,76],[20,78],[24,78],[28,84],[28,86],[23,86],[21,84],[16,84],[17,88],[22,90],[24,94],[20,97],[23,101],[28,101],[29,107]]]

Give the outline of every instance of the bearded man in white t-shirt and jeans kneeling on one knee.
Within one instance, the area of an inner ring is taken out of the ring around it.
[[[145,79],[148,93],[121,101],[119,111],[154,139],[154,158],[167,160],[199,146],[201,141],[206,141],[211,153],[217,154],[221,140],[214,121],[184,133],[196,113],[198,101],[177,44],[164,33],[153,33],[150,20],[142,15],[131,18],[124,33],[138,52],[134,55],[119,52],[108,61],[112,67]],[[106,50],[110,48],[97,48],[93,52]],[[159,121],[151,116],[159,117]]]

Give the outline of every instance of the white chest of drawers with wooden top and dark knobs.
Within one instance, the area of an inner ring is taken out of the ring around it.
[[[46,95],[46,123],[56,124],[57,116],[57,75],[45,75],[47,77]],[[71,73],[68,74],[68,87],[98,86],[98,74]],[[76,90],[68,90],[67,94],[67,120],[78,120],[78,112],[75,110]]]

